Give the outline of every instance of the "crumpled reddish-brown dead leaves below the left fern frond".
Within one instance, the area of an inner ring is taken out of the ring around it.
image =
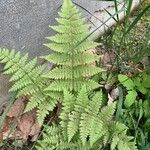
[[[11,138],[22,140],[25,143],[29,137],[32,141],[38,138],[41,126],[37,122],[36,110],[23,113],[27,101],[28,97],[21,97],[15,101],[0,130],[0,140]],[[12,130],[14,123],[15,127]]]

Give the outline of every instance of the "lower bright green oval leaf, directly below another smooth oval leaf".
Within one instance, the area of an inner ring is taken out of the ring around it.
[[[131,105],[134,104],[137,97],[137,92],[135,90],[128,91],[126,99],[124,101],[124,105],[126,108],[129,108]]]

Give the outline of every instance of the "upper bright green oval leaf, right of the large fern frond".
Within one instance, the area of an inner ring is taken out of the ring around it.
[[[126,75],[118,75],[118,80],[124,87],[127,88],[127,90],[133,90],[135,87],[134,82],[131,79],[129,79]]]

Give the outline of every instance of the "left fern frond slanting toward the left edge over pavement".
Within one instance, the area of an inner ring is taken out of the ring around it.
[[[27,54],[21,57],[19,52],[8,49],[0,49],[0,62],[5,63],[4,74],[11,75],[10,82],[14,83],[9,91],[17,92],[17,97],[29,95],[25,112],[37,108],[38,121],[42,124],[45,116],[54,109],[57,102],[44,91],[47,85],[47,80],[42,77],[45,66],[36,66],[36,58],[29,61]]]

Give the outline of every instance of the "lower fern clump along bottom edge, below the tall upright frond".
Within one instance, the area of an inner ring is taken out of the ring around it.
[[[54,150],[136,150],[133,137],[126,135],[127,127],[113,121],[116,103],[101,107],[102,92],[91,99],[85,87],[75,97],[64,91],[60,124],[46,126],[36,148]]]

